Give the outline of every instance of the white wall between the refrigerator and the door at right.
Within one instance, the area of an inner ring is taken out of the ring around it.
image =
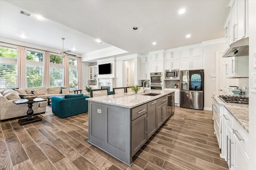
[[[215,81],[212,81],[211,74],[216,74],[216,52],[224,52],[224,42],[212,44],[204,43],[204,109],[212,110],[212,92],[216,92]],[[218,76],[218,75],[216,75]]]

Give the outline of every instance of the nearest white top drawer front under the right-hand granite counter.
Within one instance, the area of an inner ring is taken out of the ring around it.
[[[238,124],[236,120],[233,120],[233,129],[234,136],[238,139],[239,144],[242,146],[242,149],[248,155],[248,146],[249,146],[249,135],[246,131]]]

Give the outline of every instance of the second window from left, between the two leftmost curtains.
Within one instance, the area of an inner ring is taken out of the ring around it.
[[[28,88],[43,86],[44,63],[43,54],[27,51]]]

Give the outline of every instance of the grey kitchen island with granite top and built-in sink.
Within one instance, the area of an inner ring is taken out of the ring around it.
[[[87,98],[88,142],[128,166],[132,156],[170,116],[167,96],[170,90],[150,90]],[[156,95],[156,96],[152,96]]]

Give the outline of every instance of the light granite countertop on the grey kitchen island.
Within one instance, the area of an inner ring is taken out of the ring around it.
[[[143,90],[140,90],[137,95],[134,95],[133,92],[128,92],[124,94],[113,94],[108,96],[99,96],[94,98],[86,98],[86,100],[92,102],[98,102],[103,104],[110,104],[114,106],[134,108],[142,104],[148,103],[152,100],[156,100],[167,94],[175,92],[174,90],[147,90],[145,94],[148,93],[157,93],[157,96],[145,96]]]

